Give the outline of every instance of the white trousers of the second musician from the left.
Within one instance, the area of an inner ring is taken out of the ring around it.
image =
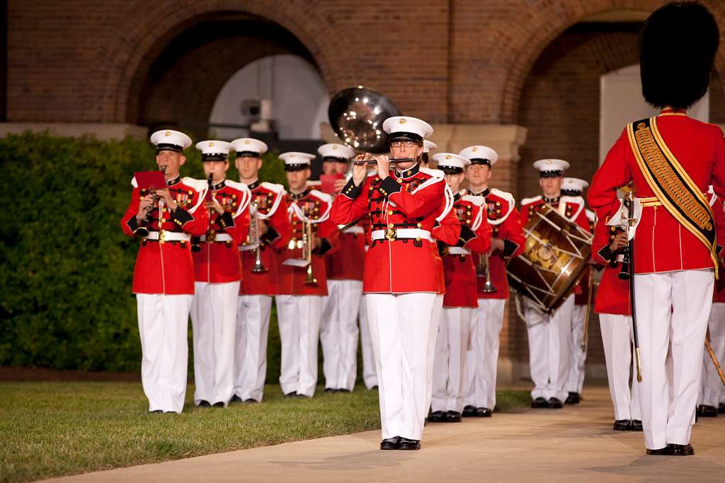
[[[194,404],[224,403],[234,395],[234,337],[239,281],[194,282]]]

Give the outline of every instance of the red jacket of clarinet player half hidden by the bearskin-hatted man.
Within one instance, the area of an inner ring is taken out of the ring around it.
[[[629,280],[619,280],[621,263],[617,254],[609,249],[610,243],[621,230],[606,223],[609,217],[597,222],[592,240],[592,258],[597,264],[605,266],[595,298],[594,310],[597,314],[631,315],[629,301]]]

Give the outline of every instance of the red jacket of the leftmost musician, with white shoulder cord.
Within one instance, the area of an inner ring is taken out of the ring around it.
[[[136,186],[136,180],[133,180]],[[164,233],[202,235],[209,226],[209,213],[204,209],[207,182],[193,178],[177,177],[167,182],[171,196],[178,204],[173,213],[162,206],[162,200],[152,209],[146,227],[159,232],[159,240],[143,240],[133,268],[133,293],[162,293],[165,295],[194,294],[194,261],[191,259],[190,241],[165,241]],[[123,218],[121,228],[128,236],[138,228],[136,214],[146,190],[134,188],[131,202]],[[160,207],[160,209],[159,209]]]

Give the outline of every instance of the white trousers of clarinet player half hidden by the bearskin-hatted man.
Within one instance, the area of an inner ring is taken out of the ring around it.
[[[641,420],[637,368],[632,364],[632,318],[625,315],[599,314],[599,324],[602,329],[614,419]]]

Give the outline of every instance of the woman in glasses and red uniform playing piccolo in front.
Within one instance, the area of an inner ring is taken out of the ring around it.
[[[377,156],[378,174],[354,165],[352,180],[335,199],[332,220],[345,224],[370,217],[372,243],[365,256],[363,292],[378,364],[383,450],[417,450],[428,408],[428,350],[439,290],[431,230],[444,204],[439,172],[421,168],[423,138],[433,133],[414,117],[383,123],[391,169]]]

